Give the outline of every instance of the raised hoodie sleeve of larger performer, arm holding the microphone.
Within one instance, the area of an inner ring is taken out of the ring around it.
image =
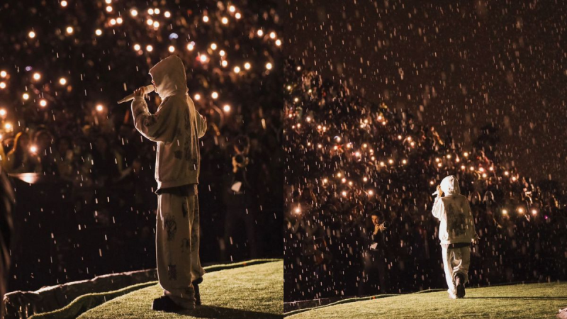
[[[155,114],[147,109],[147,103],[142,96],[135,96],[132,101],[132,115],[134,125],[142,135],[153,142],[171,142],[175,136],[177,121],[176,109],[165,99]]]

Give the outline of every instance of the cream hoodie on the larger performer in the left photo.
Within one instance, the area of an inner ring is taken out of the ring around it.
[[[187,94],[183,62],[171,55],[152,67],[150,75],[162,103],[151,114],[144,98],[135,96],[132,114],[136,129],[157,142],[157,189],[198,184],[201,164],[198,138],[205,135],[207,123]]]

